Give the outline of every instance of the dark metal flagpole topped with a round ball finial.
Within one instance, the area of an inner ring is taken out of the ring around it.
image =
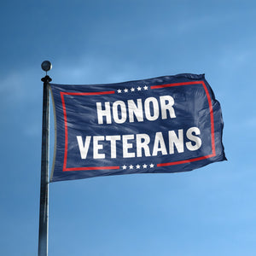
[[[48,255],[48,214],[49,214],[49,82],[47,72],[51,63],[44,61],[41,65],[46,72],[43,79],[43,125],[42,125],[42,155],[41,155],[41,189],[40,189],[40,215],[38,235],[38,256]]]

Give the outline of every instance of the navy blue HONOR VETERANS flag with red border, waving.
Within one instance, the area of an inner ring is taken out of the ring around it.
[[[50,89],[56,131],[51,182],[186,172],[226,160],[221,108],[204,75]]]

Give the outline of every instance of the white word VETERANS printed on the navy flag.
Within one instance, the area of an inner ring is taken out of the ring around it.
[[[166,143],[161,131],[154,134],[153,141],[145,133],[122,136],[93,136],[92,139],[91,136],[86,136],[85,140],[83,140],[82,136],[77,136],[77,141],[79,143],[80,156],[83,160],[87,158],[91,144],[93,159],[105,159],[106,153],[102,152],[106,152],[103,147],[106,142],[108,142],[108,147],[110,146],[110,154],[107,154],[107,157],[117,158],[117,145],[121,144],[122,149],[119,149],[123,151],[123,158],[135,158],[157,156],[158,154],[174,154],[176,150],[177,153],[183,153],[184,146],[189,151],[195,151],[201,148],[201,138],[198,137],[200,134],[199,128],[190,127],[186,132],[183,129],[179,129],[177,133],[168,131],[166,139],[168,143]],[[166,144],[168,145],[167,147]]]

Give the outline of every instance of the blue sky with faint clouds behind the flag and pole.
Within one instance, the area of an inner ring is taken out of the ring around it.
[[[2,1],[0,254],[38,253],[49,60],[56,84],[205,73],[228,159],[192,172],[50,183],[49,256],[256,255],[255,21],[247,0]]]

